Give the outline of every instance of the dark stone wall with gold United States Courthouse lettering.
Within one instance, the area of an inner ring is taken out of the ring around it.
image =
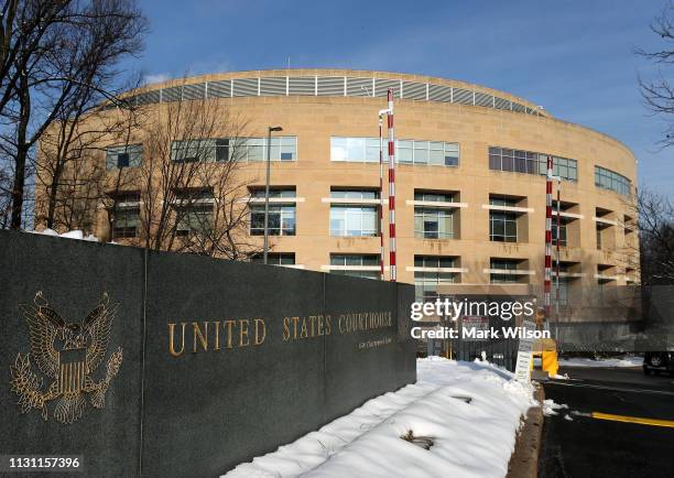
[[[0,271],[2,453],[87,476],[217,476],[416,378],[411,285],[7,231]]]

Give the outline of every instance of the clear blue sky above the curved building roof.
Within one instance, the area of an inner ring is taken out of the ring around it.
[[[642,105],[649,28],[664,0],[145,0],[146,50],[129,68],[184,73],[345,67],[418,73],[512,93],[608,133],[639,159],[640,184],[674,189],[674,149]],[[663,73],[674,76],[674,67]]]

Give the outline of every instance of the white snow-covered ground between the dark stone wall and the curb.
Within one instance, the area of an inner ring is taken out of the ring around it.
[[[503,477],[533,388],[486,362],[417,360],[417,382],[227,477]],[[426,450],[401,436],[431,437]]]

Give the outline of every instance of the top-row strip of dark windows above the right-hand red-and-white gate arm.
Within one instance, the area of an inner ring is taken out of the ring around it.
[[[524,174],[547,174],[547,154],[489,146],[489,169]],[[553,174],[563,180],[578,180],[578,162],[553,156]]]

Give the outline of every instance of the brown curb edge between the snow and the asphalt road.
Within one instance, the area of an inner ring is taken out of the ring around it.
[[[543,403],[543,387],[536,384],[534,398]],[[508,463],[507,478],[536,478],[539,474],[539,452],[543,435],[543,408],[532,406],[526,412],[524,426],[518,432],[514,452]]]

